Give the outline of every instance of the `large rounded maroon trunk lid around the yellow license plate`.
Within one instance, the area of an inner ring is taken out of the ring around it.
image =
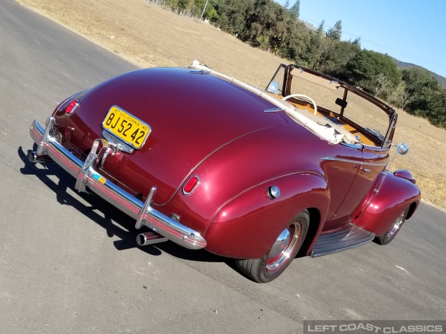
[[[93,88],[71,116],[67,140],[84,154],[103,138],[102,122],[113,106],[151,126],[138,150],[106,159],[104,170],[154,201],[168,202],[203,159],[231,141],[286,123],[275,106],[229,81],[178,68],[139,70]]]

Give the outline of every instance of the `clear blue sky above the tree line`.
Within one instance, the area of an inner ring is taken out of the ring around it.
[[[362,49],[446,77],[446,0],[300,0],[300,19],[316,27],[325,19],[325,31],[341,20],[341,40],[361,37]]]

